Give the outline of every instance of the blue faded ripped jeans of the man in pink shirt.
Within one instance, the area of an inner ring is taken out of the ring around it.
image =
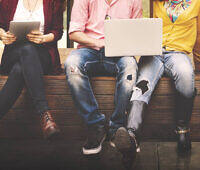
[[[105,116],[99,112],[89,76],[116,76],[115,109],[110,118],[110,126],[117,129],[125,125],[125,111],[136,82],[137,63],[134,57],[108,58],[105,57],[104,49],[98,51],[81,48],[67,57],[65,71],[75,106],[88,126],[105,123]]]

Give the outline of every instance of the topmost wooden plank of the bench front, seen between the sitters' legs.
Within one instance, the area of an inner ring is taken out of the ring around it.
[[[0,76],[0,89],[6,82],[7,76]],[[47,94],[70,94],[65,75],[45,76],[45,90]],[[116,80],[114,77],[92,77],[91,84],[95,94],[114,94]],[[196,74],[195,86],[200,94],[200,74]],[[174,85],[169,78],[161,78],[154,95],[174,95]]]

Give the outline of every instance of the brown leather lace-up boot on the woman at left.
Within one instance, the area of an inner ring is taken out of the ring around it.
[[[42,114],[41,127],[45,139],[52,139],[60,132],[49,111]]]

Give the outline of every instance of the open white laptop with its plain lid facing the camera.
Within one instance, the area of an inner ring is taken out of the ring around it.
[[[162,54],[162,19],[105,20],[105,55],[148,56]]]

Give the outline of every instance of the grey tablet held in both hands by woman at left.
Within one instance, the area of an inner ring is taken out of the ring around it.
[[[9,31],[17,37],[17,41],[25,40],[33,30],[39,30],[40,21],[11,21]]]

